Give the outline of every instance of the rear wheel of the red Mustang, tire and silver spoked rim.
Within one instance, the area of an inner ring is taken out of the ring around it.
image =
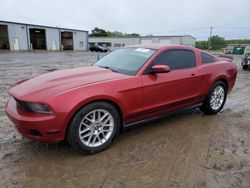
[[[216,114],[223,108],[226,98],[226,84],[222,81],[218,81],[209,90],[208,95],[200,109],[205,114]]]

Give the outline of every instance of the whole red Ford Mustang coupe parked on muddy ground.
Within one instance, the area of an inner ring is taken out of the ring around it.
[[[201,104],[219,112],[237,75],[231,60],[186,46],[136,45],[93,66],[20,81],[6,114],[32,140],[66,139],[80,153],[106,149],[120,127]]]

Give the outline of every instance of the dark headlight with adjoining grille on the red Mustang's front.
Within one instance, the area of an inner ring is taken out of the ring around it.
[[[42,114],[52,114],[51,109],[46,104],[25,102],[16,98],[15,100],[17,104],[21,106],[23,109],[25,109],[26,111],[42,113]]]

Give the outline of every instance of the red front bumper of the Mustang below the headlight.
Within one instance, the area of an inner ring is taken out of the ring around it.
[[[58,142],[64,140],[65,131],[55,115],[31,113],[20,108],[13,97],[8,101],[5,113],[18,132],[34,141]]]

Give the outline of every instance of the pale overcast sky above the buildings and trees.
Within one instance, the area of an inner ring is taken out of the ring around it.
[[[250,39],[249,0],[0,0],[0,20],[142,35]]]

